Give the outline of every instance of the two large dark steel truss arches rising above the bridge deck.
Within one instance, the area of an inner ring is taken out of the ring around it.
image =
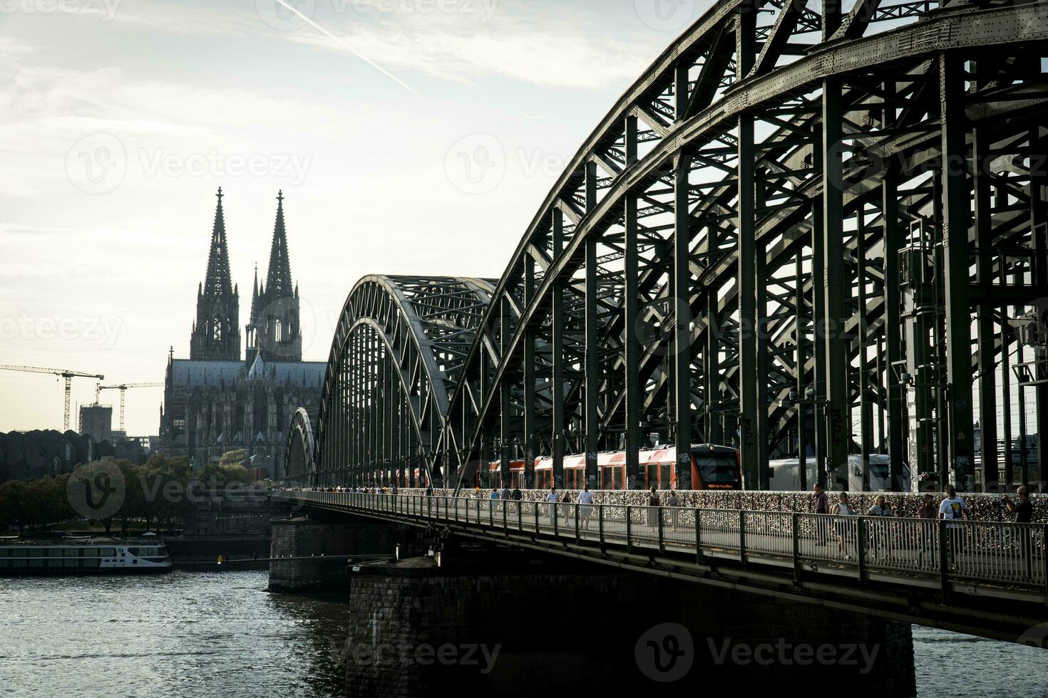
[[[737,445],[752,489],[809,452],[836,488],[855,452],[890,454],[894,489],[908,467],[1011,481],[1017,404],[1020,435],[1026,402],[1048,433],[1045,57],[1045,0],[718,2],[612,107],[497,282],[357,284],[318,481],[417,467],[457,488],[523,458],[530,485],[552,455],[560,485],[585,453],[592,485],[625,449],[637,487],[651,437]],[[976,420],[1003,452],[975,448]]]

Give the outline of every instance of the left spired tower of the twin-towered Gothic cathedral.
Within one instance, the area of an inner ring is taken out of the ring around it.
[[[197,318],[190,338],[190,359],[240,359],[240,296],[230,280],[230,253],[222,218],[222,189],[218,189],[215,227],[211,233],[208,275],[197,287]]]

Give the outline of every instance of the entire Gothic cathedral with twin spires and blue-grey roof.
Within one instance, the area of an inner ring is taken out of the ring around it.
[[[168,355],[159,450],[187,455],[194,466],[245,449],[256,477],[284,475],[286,434],[294,411],[320,405],[323,361],[302,360],[299,288],[291,280],[284,197],[277,197],[269,267],[258,270],[241,355],[240,295],[230,276],[222,190],[211,237],[208,272],[197,288],[190,356]],[[264,469],[264,471],[263,471]]]

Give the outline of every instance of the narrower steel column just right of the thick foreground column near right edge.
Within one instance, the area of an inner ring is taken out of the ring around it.
[[[979,248],[977,278],[983,302],[979,306],[979,424],[982,437],[982,489],[996,492],[998,478],[997,454],[997,337],[994,333],[994,306],[989,302],[994,280],[994,211],[990,209],[989,155],[990,138],[986,127],[973,130],[973,185],[975,187],[976,247]],[[1002,264],[1003,264],[1002,257]],[[991,489],[992,488],[992,489]]]

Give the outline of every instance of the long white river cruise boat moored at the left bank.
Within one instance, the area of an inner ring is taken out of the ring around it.
[[[143,538],[0,538],[0,576],[167,572],[162,541]]]

